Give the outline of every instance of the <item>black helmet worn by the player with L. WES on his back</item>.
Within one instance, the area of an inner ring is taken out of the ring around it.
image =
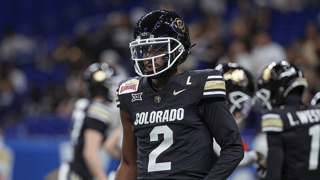
[[[255,95],[261,100],[262,108],[271,110],[272,107],[282,105],[293,88],[302,95],[307,86],[302,71],[295,65],[284,60],[271,62],[257,79],[258,90]]]

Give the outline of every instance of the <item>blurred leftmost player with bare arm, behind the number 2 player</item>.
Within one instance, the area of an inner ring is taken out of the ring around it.
[[[116,107],[108,104],[112,100],[108,92],[112,73],[105,62],[93,63],[83,72],[83,78],[89,83],[90,98],[75,102],[71,131],[74,157],[68,164],[60,166],[59,180],[107,179],[99,150],[119,116],[118,112],[114,113]]]

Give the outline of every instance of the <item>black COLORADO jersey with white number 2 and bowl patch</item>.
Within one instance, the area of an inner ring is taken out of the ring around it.
[[[120,82],[117,106],[131,115],[137,136],[137,179],[203,179],[208,174],[213,166],[212,130],[198,109],[200,100],[208,97],[225,99],[224,80],[213,69],[171,76],[159,92],[146,77]],[[221,108],[210,113],[225,113],[235,124],[226,105]],[[232,128],[238,133],[236,124]]]

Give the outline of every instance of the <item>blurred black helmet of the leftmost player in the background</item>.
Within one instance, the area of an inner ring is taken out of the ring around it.
[[[109,94],[110,77],[113,69],[105,62],[93,63],[83,71],[83,79],[85,80],[90,97],[101,95],[112,101]]]

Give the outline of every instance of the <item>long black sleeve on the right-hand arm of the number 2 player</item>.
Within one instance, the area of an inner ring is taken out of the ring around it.
[[[202,99],[199,113],[221,147],[217,161],[204,179],[226,179],[244,156],[239,129],[223,98]]]

